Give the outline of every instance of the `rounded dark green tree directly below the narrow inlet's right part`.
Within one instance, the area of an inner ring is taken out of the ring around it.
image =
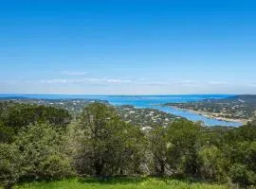
[[[201,126],[187,120],[175,121],[167,129],[168,163],[174,173],[185,176],[199,174],[197,152]]]

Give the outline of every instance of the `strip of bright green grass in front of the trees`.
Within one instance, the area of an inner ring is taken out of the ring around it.
[[[225,185],[155,178],[69,179],[18,184],[15,189],[227,189]]]

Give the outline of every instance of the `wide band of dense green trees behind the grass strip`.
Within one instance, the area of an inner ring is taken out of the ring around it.
[[[124,122],[111,106],[92,103],[71,123],[64,110],[0,106],[0,180],[68,176],[172,176],[256,185],[256,123],[204,128],[187,120],[143,129]]]

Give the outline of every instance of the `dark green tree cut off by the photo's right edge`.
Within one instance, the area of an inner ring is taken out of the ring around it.
[[[223,154],[229,158],[229,178],[243,187],[256,184],[256,123],[249,122],[225,135]]]

